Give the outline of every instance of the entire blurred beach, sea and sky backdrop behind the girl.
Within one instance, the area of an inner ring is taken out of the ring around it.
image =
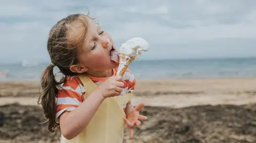
[[[116,47],[150,45],[130,66],[148,120],[124,142],[256,142],[256,1],[11,0],[0,5],[1,143],[59,142],[37,105],[46,41],[58,20],[88,12]]]

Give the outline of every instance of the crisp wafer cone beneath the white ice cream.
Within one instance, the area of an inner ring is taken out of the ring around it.
[[[135,60],[135,57],[126,56],[124,54],[119,54],[119,66],[117,69],[117,75],[123,76],[128,66]]]

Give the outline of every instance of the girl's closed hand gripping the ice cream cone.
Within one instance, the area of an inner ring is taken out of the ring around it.
[[[124,87],[124,80],[121,76],[116,75],[113,77],[110,77],[105,82],[103,82],[99,86],[99,90],[101,91],[101,94],[103,97],[114,97],[119,96],[121,92],[123,91]]]

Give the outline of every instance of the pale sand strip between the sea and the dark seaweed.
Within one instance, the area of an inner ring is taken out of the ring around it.
[[[255,83],[256,79],[140,80],[132,103],[173,108],[250,104],[256,103]],[[38,95],[37,82],[0,82],[0,105],[37,105]]]

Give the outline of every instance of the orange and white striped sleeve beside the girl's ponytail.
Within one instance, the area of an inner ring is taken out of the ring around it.
[[[78,77],[67,77],[57,94],[56,118],[65,111],[73,111],[84,101],[85,89]]]

